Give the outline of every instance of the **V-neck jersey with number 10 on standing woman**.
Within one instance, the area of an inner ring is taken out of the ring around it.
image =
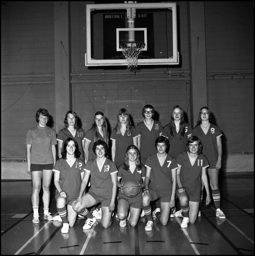
[[[64,151],[64,142],[67,138],[74,138],[79,146],[79,151],[80,151],[80,158],[84,160],[84,154],[83,154],[83,146],[82,146],[82,141],[85,140],[85,132],[83,129],[78,128],[76,130],[75,136],[67,129],[62,129],[59,131],[59,134],[57,135],[57,141],[63,142],[62,146],[62,152]]]

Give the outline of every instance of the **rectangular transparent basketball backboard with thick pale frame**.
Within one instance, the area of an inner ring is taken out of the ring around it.
[[[137,65],[177,65],[176,3],[86,5],[86,66],[127,65],[121,43],[144,43]]]

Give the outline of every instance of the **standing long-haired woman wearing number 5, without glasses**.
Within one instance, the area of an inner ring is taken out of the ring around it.
[[[184,122],[184,114],[181,106],[176,105],[172,109],[171,122],[164,127],[162,135],[169,139],[169,155],[177,159],[181,152],[185,151],[188,138],[192,134],[192,128]],[[175,217],[176,208],[171,209],[171,218]]]

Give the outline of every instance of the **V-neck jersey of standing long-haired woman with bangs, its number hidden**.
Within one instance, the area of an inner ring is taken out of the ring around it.
[[[112,130],[110,139],[116,143],[115,161],[125,161],[127,147],[133,145],[133,138],[138,136],[138,132],[132,126],[130,127],[130,135],[127,135],[127,130],[124,136],[121,133],[117,134],[116,128]]]

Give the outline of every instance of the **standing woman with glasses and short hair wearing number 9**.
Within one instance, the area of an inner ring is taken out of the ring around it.
[[[154,112],[155,109],[152,105],[145,105],[142,112],[144,120],[136,126],[139,134],[138,150],[140,151],[141,163],[143,165],[145,165],[149,155],[157,153],[155,141],[163,132],[162,124],[152,119]]]

